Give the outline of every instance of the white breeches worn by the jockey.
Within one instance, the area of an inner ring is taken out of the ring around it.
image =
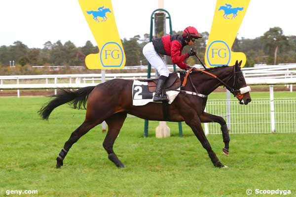
[[[144,46],[143,54],[150,65],[157,70],[159,75],[163,75],[166,77],[169,76],[170,71],[165,64],[164,59],[155,51],[152,42],[149,42]]]

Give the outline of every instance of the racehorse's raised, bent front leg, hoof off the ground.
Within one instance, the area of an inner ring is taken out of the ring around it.
[[[229,132],[228,132],[225,120],[221,116],[216,116],[216,115],[209,114],[206,112],[202,112],[202,114],[199,116],[199,118],[202,123],[215,122],[215,123],[219,123],[221,125],[222,137],[223,137],[223,142],[224,142],[224,148],[222,149],[222,151],[223,151],[224,155],[229,156],[230,137],[229,137]]]

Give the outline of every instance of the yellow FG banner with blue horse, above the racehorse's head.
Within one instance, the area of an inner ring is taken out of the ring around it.
[[[241,61],[246,64],[246,55],[232,52],[231,47],[246,14],[250,0],[217,0],[214,19],[205,53],[207,66],[233,66]]]

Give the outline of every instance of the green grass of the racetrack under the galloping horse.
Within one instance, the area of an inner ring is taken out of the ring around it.
[[[225,94],[211,97],[224,99]],[[256,97],[269,95],[252,94]],[[156,139],[157,122],[150,121],[149,137],[143,138],[144,121],[127,118],[114,144],[126,168],[108,160],[102,147],[106,133],[97,126],[55,169],[58,153],[85,111],[64,105],[42,121],[36,112],[46,100],[0,98],[0,196],[6,190],[38,190],[31,196],[245,197],[247,189],[292,190],[289,196],[296,196],[296,134],[232,134],[229,157],[222,155],[222,136],[209,135],[213,150],[228,166],[218,169],[185,124],[184,137],[179,137],[177,123],[169,123],[172,137]]]

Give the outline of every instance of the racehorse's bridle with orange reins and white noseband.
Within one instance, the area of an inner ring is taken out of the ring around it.
[[[185,78],[184,78],[184,81],[183,81],[183,84],[182,84],[182,87],[184,88],[185,87],[185,85],[186,85],[186,83],[187,83],[187,78],[189,78],[189,81],[190,81],[190,83],[191,83],[191,85],[192,85],[192,87],[193,87],[193,89],[194,89],[194,91],[195,91],[195,93],[196,94],[194,94],[194,95],[197,95],[198,96],[198,92],[197,92],[197,90],[196,90],[196,87],[195,87],[195,85],[193,84],[193,82],[192,82],[192,80],[191,80],[191,77],[190,77],[190,72],[192,72],[192,71],[201,71],[201,72],[203,72],[203,73],[205,73],[205,74],[207,74],[207,75],[210,75],[210,76],[212,76],[212,77],[214,77],[214,78],[216,78],[218,81],[220,81],[222,84],[223,84],[223,86],[230,92],[230,93],[232,93],[233,95],[234,95],[234,97],[236,97],[240,102],[241,102],[241,100],[244,98],[244,94],[245,93],[247,93],[247,92],[250,92],[251,91],[251,88],[250,88],[250,86],[247,86],[247,87],[244,87],[244,88],[240,88],[240,89],[238,89],[238,82],[237,82],[237,80],[236,80],[236,74],[237,73],[242,73],[242,71],[236,71],[235,70],[235,66],[233,66],[233,74],[226,80],[226,82],[224,82],[224,81],[222,81],[219,77],[217,77],[215,74],[212,74],[212,73],[210,73],[210,72],[207,72],[207,71],[205,71],[205,70],[200,70],[200,69],[197,69],[197,68],[194,68],[194,67],[191,67],[188,71],[187,71],[187,73],[186,73],[186,75],[185,75]],[[233,84],[232,84],[232,87],[230,87],[230,86],[228,86],[227,85],[227,83],[228,83],[228,81],[230,81],[230,79],[232,79],[232,78],[234,78],[233,79]],[[201,94],[199,94],[199,95],[201,95]]]

